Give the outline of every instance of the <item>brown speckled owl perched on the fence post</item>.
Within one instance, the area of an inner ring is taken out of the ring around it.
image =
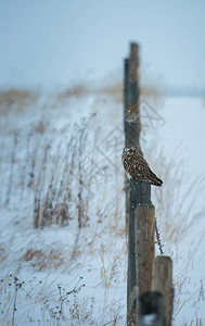
[[[123,164],[128,178],[162,186],[163,181],[151,171],[142,154],[133,147],[126,146],[123,151]]]

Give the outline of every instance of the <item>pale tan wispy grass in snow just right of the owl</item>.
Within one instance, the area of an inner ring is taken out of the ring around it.
[[[157,217],[163,229],[163,238],[166,242],[177,242],[187,235],[193,225],[202,217],[202,210],[195,205],[195,193],[204,188],[204,178],[198,176],[189,180],[184,174],[184,162],[179,161],[180,146],[178,146],[167,160],[161,151],[153,170],[163,178],[163,191],[154,190],[154,200]],[[181,200],[182,198],[182,200]]]

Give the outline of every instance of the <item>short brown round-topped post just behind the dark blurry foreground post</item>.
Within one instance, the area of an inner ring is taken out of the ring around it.
[[[154,261],[153,291],[164,297],[165,325],[171,325],[172,313],[172,261],[167,255],[158,255]]]

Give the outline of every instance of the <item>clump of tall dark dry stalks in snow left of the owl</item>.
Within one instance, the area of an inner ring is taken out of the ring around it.
[[[51,224],[66,226],[75,217],[78,221],[78,228],[81,228],[89,221],[90,193],[86,190],[89,185],[84,173],[87,133],[87,123],[82,122],[82,125],[75,127],[78,137],[72,136],[66,142],[60,139],[52,159],[51,143],[44,145],[42,161],[36,168],[36,173],[34,172],[34,226],[36,228],[43,228]],[[35,155],[33,161],[36,161]]]

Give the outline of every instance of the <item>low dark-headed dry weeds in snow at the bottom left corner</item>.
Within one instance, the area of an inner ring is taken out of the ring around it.
[[[15,275],[8,275],[0,280],[0,294],[3,294],[0,321],[2,325],[43,323],[57,326],[62,323],[73,325],[73,321],[77,319],[78,325],[84,325],[85,321],[94,325],[92,324],[94,299],[87,298],[82,301],[78,297],[84,287],[82,277],[72,289],[67,289],[61,284],[56,285],[55,281],[48,283],[47,279],[21,280]],[[35,311],[37,317],[34,315]]]

